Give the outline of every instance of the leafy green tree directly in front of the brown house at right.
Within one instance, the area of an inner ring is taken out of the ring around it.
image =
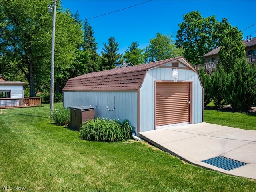
[[[220,38],[222,42],[218,52],[218,63],[222,64],[227,73],[230,73],[234,64],[241,62],[246,55],[245,46],[242,43],[242,32],[229,24],[220,35]]]

